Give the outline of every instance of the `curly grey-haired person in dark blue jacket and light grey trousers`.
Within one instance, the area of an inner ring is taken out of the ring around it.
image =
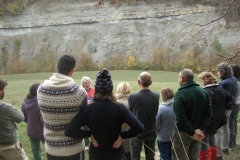
[[[232,68],[225,62],[222,62],[216,66],[217,75],[221,81],[219,85],[230,93],[233,97],[235,97],[236,87],[237,87],[237,80],[234,76],[232,76]],[[229,118],[232,112],[232,108],[234,107],[234,101],[229,103],[225,109],[225,115],[227,117],[227,123],[220,128],[220,133],[216,135],[216,144],[218,149],[222,151],[224,154],[229,154],[228,145],[230,140],[230,133],[229,133]],[[230,130],[232,130],[230,128]],[[222,153],[218,152],[218,157],[221,157]]]

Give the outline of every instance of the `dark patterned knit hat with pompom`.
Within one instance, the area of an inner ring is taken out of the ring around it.
[[[111,93],[113,91],[113,83],[111,75],[106,68],[98,72],[95,82],[95,92]]]

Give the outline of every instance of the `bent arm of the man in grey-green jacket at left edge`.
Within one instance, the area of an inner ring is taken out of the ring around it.
[[[8,117],[16,123],[20,123],[24,120],[23,112],[10,105],[8,106]]]

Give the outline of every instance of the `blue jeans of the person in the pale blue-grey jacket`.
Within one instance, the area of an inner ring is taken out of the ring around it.
[[[158,149],[161,159],[171,160],[172,159],[172,143],[171,142],[158,142]]]

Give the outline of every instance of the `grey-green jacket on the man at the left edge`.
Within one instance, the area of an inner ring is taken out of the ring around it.
[[[17,126],[24,120],[21,111],[0,101],[0,145],[12,145],[17,142]]]

